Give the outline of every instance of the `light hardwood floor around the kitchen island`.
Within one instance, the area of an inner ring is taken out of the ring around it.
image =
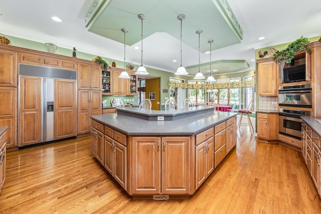
[[[0,213],[321,213],[301,153],[248,130],[185,200],[131,199],[91,154],[89,136],[8,152]]]

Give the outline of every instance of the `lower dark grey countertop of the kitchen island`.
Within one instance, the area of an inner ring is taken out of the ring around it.
[[[173,121],[148,121],[118,113],[91,118],[126,135],[194,135],[235,115],[237,113],[211,111]]]

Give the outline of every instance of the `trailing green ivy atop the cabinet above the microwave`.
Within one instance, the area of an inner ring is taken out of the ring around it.
[[[290,43],[285,49],[281,51],[276,51],[273,54],[273,59],[279,63],[282,60],[284,60],[285,63],[290,63],[295,56],[295,52],[302,50],[305,50],[306,52],[311,52],[311,50],[307,48],[307,44],[309,43],[310,41],[308,41],[307,38],[300,37],[294,42]]]

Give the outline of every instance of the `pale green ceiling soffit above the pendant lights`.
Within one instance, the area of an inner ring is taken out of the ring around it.
[[[184,14],[182,41],[195,50],[198,50],[197,30],[203,30],[201,43],[214,40],[213,50],[238,44],[243,39],[243,30],[226,0],[203,0],[202,4],[194,0],[95,0],[87,12],[85,25],[88,31],[119,43],[124,40],[120,29],[126,28],[126,45],[132,46],[141,39],[138,14],[146,16],[144,38],[166,32],[180,40],[177,16]],[[205,53],[208,47],[203,45],[200,51]]]

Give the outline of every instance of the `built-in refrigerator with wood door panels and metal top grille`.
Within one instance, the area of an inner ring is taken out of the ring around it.
[[[19,64],[19,147],[76,136],[76,77]]]

